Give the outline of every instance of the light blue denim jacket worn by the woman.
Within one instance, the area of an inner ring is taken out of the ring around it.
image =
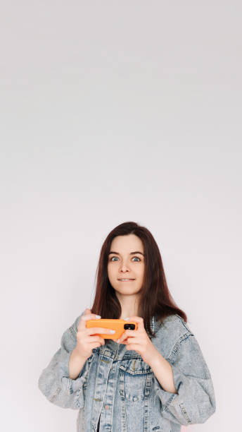
[[[163,390],[151,366],[136,351],[113,340],[94,348],[79,376],[69,378],[70,354],[77,344],[77,317],[60,348],[42,371],[38,385],[62,408],[79,409],[77,432],[179,432],[181,425],[204,423],[216,409],[210,371],[200,346],[177,314],[161,324],[152,317],[151,341],[172,365],[178,394]]]

